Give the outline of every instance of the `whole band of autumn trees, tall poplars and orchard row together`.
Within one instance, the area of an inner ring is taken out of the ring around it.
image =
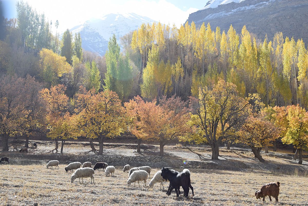
[[[221,142],[244,143],[255,157],[277,139],[308,146],[308,53],[302,40],[257,39],[210,24],[178,29],[142,24],[115,35],[105,56],[82,50],[80,34],[55,28],[27,3],[4,19],[0,41],[0,134],[41,133],[61,140],[132,133],[157,141],[160,155],[172,139],[209,143],[218,159]],[[26,141],[26,146],[28,141]]]

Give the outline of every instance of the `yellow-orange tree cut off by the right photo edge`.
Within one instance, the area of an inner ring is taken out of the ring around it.
[[[308,113],[299,105],[289,105],[287,110],[288,128],[282,138],[285,144],[293,144],[299,150],[299,164],[302,164],[302,150],[308,149]]]

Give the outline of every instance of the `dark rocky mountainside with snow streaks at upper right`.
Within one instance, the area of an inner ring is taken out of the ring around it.
[[[276,32],[284,37],[302,38],[308,43],[308,0],[244,0],[220,4],[212,0],[205,8],[192,13],[188,23],[194,21],[197,26],[209,22],[212,29],[217,26],[221,31],[228,31],[230,24],[237,33],[246,25],[247,30],[263,39],[265,34],[270,39]]]

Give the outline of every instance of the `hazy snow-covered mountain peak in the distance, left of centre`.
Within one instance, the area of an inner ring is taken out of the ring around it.
[[[70,29],[72,35],[80,32],[82,47],[86,51],[103,56],[107,50],[109,38],[115,34],[119,38],[136,30],[142,23],[152,24],[154,20],[138,14],[107,14],[99,19],[91,19]],[[62,36],[62,35],[61,35]]]

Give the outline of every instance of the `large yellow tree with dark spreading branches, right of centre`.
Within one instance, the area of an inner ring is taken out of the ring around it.
[[[197,102],[191,103],[192,125],[197,128],[196,143],[208,142],[212,159],[218,159],[219,144],[228,141],[229,131],[240,128],[248,116],[249,103],[240,97],[235,84],[219,79],[199,88]]]

